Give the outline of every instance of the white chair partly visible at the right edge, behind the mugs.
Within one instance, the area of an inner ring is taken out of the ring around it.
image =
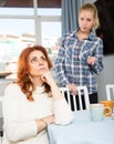
[[[114,100],[114,84],[106,84],[106,97],[108,101]]]

